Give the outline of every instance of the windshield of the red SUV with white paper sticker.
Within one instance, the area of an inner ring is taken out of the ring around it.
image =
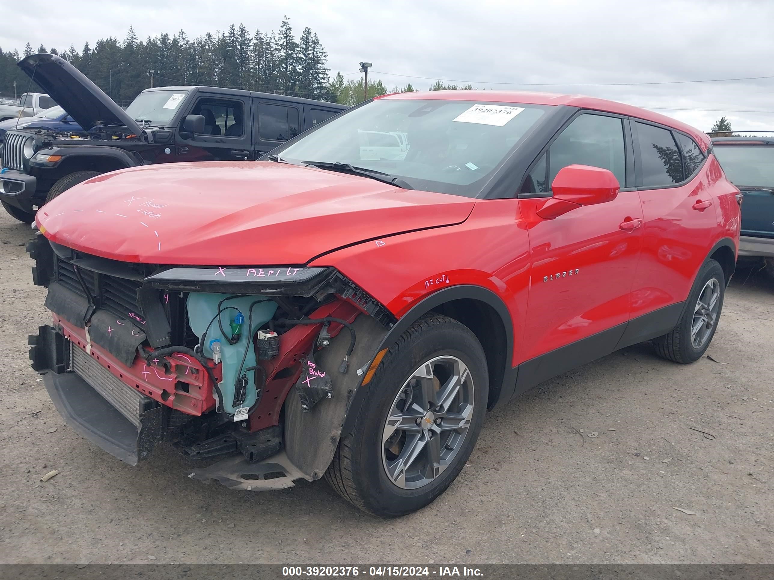
[[[549,108],[379,99],[276,152],[292,163],[348,163],[398,177],[413,189],[475,197]]]

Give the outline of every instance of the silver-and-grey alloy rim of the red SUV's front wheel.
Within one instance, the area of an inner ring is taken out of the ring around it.
[[[471,425],[473,378],[457,357],[434,357],[398,391],[382,430],[382,465],[406,490],[433,482],[460,451]]]

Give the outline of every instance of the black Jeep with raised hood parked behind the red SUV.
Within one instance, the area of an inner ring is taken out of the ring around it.
[[[59,56],[33,54],[19,67],[82,131],[8,131],[0,201],[17,220],[70,187],[108,171],[183,161],[259,159],[343,111],[344,105],[215,87],[143,90],[124,111]]]

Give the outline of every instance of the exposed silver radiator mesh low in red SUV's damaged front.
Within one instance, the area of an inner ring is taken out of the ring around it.
[[[124,384],[80,346],[74,346],[73,343],[70,343],[70,360],[73,370],[80,378],[139,428],[140,415],[146,408],[149,397]]]

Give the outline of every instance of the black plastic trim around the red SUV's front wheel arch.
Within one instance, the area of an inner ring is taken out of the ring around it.
[[[438,306],[447,302],[461,299],[478,300],[479,302],[484,302],[486,305],[491,306],[491,308],[497,312],[497,315],[501,319],[502,325],[505,327],[505,368],[502,372],[502,384],[499,385],[498,397],[495,399],[495,401],[489,401],[488,406],[491,408],[498,401],[509,401],[511,398],[512,391],[515,389],[516,372],[518,367],[511,366],[513,356],[513,322],[511,313],[509,312],[508,307],[505,305],[505,302],[502,302],[502,299],[500,299],[500,297],[496,295],[495,292],[488,290],[488,288],[475,285],[458,285],[450,286],[449,288],[443,288],[437,292],[433,292],[433,294],[427,296],[420,302],[417,302],[415,305],[413,305],[411,309],[406,312],[406,314],[398,319],[398,322],[396,322],[392,328],[389,329],[389,332],[385,334],[382,342],[374,352],[378,353],[381,350],[392,346],[392,343],[395,343],[398,337],[402,333],[405,333],[407,329],[409,329],[409,326],[413,325],[414,322],[419,320],[428,312],[431,312],[433,309],[436,309]],[[350,411],[354,408],[358,408],[359,404],[361,404],[364,397],[366,396],[365,390],[361,387],[362,380],[361,384],[358,386],[358,389],[354,391],[354,395],[349,402],[347,415],[344,418],[344,425],[342,425],[341,428],[342,437],[351,432],[351,429],[354,427],[355,415]]]

